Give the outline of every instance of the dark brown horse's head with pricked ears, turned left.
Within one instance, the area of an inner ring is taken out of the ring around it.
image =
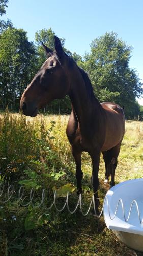
[[[69,92],[67,56],[58,37],[54,37],[55,51],[43,44],[48,58],[24,91],[20,108],[27,116],[36,116],[38,109]]]

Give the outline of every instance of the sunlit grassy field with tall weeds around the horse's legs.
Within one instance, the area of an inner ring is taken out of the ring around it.
[[[25,187],[25,202],[32,187],[36,189],[35,204],[40,200],[42,188],[47,188],[48,200],[53,200],[53,187],[65,184],[75,188],[70,197],[71,208],[77,202],[75,164],[66,137],[68,116],[42,116],[26,118],[8,112],[0,115],[0,182],[13,184],[15,198],[0,203],[0,255],[141,255],[120,243],[106,228],[103,217],[89,214],[83,217],[79,210],[74,215],[67,209],[58,214],[50,211],[22,207],[17,202],[20,183]],[[143,173],[143,123],[126,121],[126,133],[121,147],[115,175],[116,183],[141,178]],[[83,207],[91,200],[91,159],[82,155]],[[104,163],[101,157],[100,204],[104,187]],[[7,189],[6,189],[7,190]],[[1,199],[4,200],[5,195]],[[59,208],[64,198],[58,199]]]

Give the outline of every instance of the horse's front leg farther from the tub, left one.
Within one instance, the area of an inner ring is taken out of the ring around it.
[[[75,148],[72,148],[72,154],[76,164],[77,194],[82,194],[83,191],[82,191],[81,180],[83,177],[83,173],[81,170],[81,152],[75,150]]]

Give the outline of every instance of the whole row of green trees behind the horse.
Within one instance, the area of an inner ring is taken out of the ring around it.
[[[6,12],[7,3],[8,0],[0,0],[0,16]],[[21,94],[46,60],[41,41],[53,49],[54,35],[51,28],[42,29],[35,33],[35,41],[30,42],[27,32],[14,28],[11,20],[0,20],[1,109],[7,105],[13,110],[19,109]],[[136,100],[143,93],[142,83],[137,71],[129,67],[132,47],[110,32],[94,39],[90,52],[82,58],[64,47],[64,38],[60,40],[65,52],[88,72],[100,102],[111,101],[124,106],[126,118],[143,117],[142,107]],[[70,113],[70,99],[67,96],[53,101],[46,111]]]

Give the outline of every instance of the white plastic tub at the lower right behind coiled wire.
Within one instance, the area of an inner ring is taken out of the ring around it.
[[[130,248],[143,251],[143,179],[112,187],[104,199],[107,227]]]

